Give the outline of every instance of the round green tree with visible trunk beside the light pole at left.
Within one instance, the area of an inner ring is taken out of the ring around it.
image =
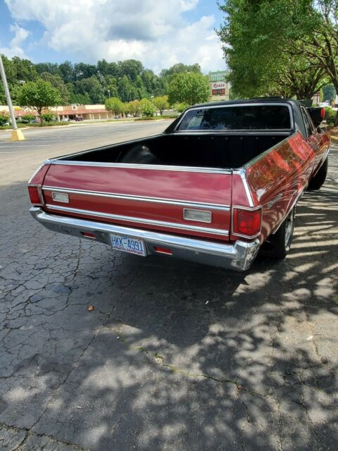
[[[21,87],[18,101],[20,106],[29,106],[31,109],[35,109],[41,118],[44,108],[60,104],[61,95],[50,82],[38,79],[36,82],[27,82]]]

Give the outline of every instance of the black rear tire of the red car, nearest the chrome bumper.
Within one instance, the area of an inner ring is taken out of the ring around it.
[[[294,234],[295,207],[290,211],[287,218],[274,235],[270,235],[261,246],[261,256],[273,260],[283,260],[291,247]]]

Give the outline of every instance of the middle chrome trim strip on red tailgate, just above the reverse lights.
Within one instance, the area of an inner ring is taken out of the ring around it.
[[[165,199],[164,197],[143,197],[137,194],[119,194],[116,192],[70,190],[69,188],[60,188],[53,186],[42,186],[44,191],[67,192],[69,194],[88,194],[89,196],[112,197],[113,199],[136,200],[140,202],[154,202],[156,204],[173,204],[180,206],[191,206],[193,208],[213,209],[221,211],[230,211],[230,205],[223,204],[204,204],[203,202]]]

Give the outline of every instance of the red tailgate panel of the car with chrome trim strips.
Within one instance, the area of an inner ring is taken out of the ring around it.
[[[138,228],[229,239],[232,171],[140,166],[51,163],[42,187],[45,209]],[[61,202],[62,196],[55,193],[68,194],[63,197],[68,202]],[[186,209],[202,212],[197,214],[201,218],[184,218]]]

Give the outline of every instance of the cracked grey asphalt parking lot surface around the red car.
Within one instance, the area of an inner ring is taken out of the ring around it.
[[[337,147],[287,259],[246,273],[30,217],[39,162],[167,125],[0,135],[0,450],[337,450]]]

